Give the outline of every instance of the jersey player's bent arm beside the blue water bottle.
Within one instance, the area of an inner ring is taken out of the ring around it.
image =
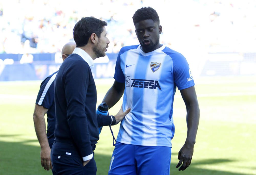
[[[124,83],[114,81],[114,84],[110,87],[102,102],[106,102],[109,109],[113,107],[122,97],[124,93]]]

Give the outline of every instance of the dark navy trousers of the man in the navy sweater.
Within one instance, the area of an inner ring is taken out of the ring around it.
[[[55,141],[51,149],[52,166],[58,175],[96,175],[94,157],[83,167],[83,159],[73,143]]]

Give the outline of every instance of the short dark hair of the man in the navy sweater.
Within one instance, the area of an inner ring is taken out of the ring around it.
[[[81,18],[73,29],[73,37],[77,47],[85,46],[93,33],[100,37],[103,27],[106,25],[108,24],[105,21],[94,17]]]

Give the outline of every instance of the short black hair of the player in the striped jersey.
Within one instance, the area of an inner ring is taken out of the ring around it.
[[[151,8],[151,7],[142,7],[140,9],[138,9],[133,17],[133,24],[135,25],[137,22],[146,20],[146,19],[152,19],[154,22],[160,22],[159,20],[159,16],[157,14],[157,12]]]

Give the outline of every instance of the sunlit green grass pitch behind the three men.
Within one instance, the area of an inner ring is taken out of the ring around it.
[[[0,82],[0,174],[51,174],[41,167],[33,111],[40,81]],[[97,104],[113,83],[95,80]],[[189,168],[179,172],[177,153],[186,139],[186,108],[177,90],[174,99],[175,136],[170,174],[256,174],[256,77],[195,79],[200,123]],[[115,115],[122,99],[110,109]],[[117,136],[119,125],[112,127]],[[95,150],[98,175],[108,174],[114,147],[109,127],[103,127]]]

